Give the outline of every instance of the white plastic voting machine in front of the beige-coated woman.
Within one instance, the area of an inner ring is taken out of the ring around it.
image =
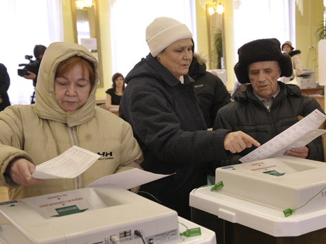
[[[0,214],[0,243],[216,244],[211,230],[109,184],[4,202]],[[201,234],[181,236],[187,228]]]

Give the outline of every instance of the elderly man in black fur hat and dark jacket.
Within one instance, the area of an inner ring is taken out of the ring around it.
[[[301,94],[299,86],[278,82],[279,77],[292,75],[288,54],[281,53],[281,43],[275,38],[253,40],[238,50],[239,62],[234,71],[241,84],[251,84],[235,101],[218,111],[213,130],[242,131],[264,144],[298,121],[298,116],[310,114],[316,108],[323,112],[316,99]],[[256,147],[244,149],[228,164]],[[287,156],[323,161],[321,138],[306,147],[292,148]]]

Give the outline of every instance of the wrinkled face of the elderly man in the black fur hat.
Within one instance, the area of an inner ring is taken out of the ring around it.
[[[268,101],[277,91],[281,69],[277,61],[254,62],[248,66],[248,75],[254,93]]]

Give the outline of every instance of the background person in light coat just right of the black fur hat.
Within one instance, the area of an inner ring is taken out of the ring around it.
[[[292,47],[292,43],[290,41],[284,42],[281,49],[284,53],[290,55],[292,60],[292,65],[293,65],[292,75],[290,77],[282,77],[282,82],[289,83],[292,80],[296,79],[296,77],[301,75],[302,73],[302,64],[301,64],[301,57],[300,57],[301,51],[294,50],[294,47]]]

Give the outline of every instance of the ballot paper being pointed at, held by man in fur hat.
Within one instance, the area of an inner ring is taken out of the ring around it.
[[[305,147],[305,145],[326,132],[326,130],[318,129],[325,119],[325,114],[317,109],[314,110],[304,119],[288,128],[288,130],[283,131],[250,154],[240,158],[240,162],[277,158],[284,156],[284,153],[292,148]]]

